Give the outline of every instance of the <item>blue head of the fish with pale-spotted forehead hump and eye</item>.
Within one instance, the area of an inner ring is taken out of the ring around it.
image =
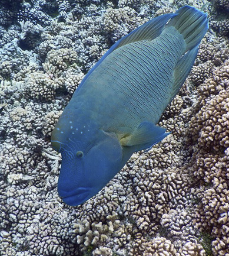
[[[125,160],[115,133],[103,131],[91,121],[73,125],[65,120],[68,129],[61,122],[60,118],[51,138],[52,147],[62,155],[58,193],[67,205],[77,206],[96,195]]]

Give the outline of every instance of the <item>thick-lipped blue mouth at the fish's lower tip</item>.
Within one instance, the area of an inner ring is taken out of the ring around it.
[[[78,187],[71,192],[58,191],[58,194],[67,205],[77,206],[89,199],[90,192],[91,187]]]

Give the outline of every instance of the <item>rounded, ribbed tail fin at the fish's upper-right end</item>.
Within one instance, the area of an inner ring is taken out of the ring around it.
[[[175,27],[184,37],[186,51],[191,50],[200,44],[208,30],[207,14],[188,5],[178,9],[175,14],[178,15],[172,18],[166,27]]]

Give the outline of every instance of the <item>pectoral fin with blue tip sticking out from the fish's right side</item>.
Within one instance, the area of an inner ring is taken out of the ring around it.
[[[151,148],[170,132],[152,122],[142,122],[132,134],[120,140],[122,147],[134,147],[135,151]]]

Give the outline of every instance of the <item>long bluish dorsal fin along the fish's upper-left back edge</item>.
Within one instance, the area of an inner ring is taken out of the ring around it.
[[[84,79],[82,80],[81,84],[78,86],[78,90],[76,92],[79,92],[79,88],[84,84],[85,80],[88,78],[89,74],[91,74],[98,66],[99,64],[107,58],[109,54],[112,53],[115,49],[124,46],[125,44],[130,44],[135,41],[141,41],[141,40],[148,40],[151,41],[154,38],[158,37],[158,35],[161,34],[165,24],[170,20],[171,18],[177,16],[178,14],[164,14],[161,16],[158,16],[145,24],[141,25],[140,27],[133,30],[130,34],[125,35],[125,37],[122,37],[120,40],[118,40],[109,50],[107,53],[104,54],[104,56],[101,57],[101,59],[95,64],[94,67],[92,67],[91,70],[86,74]],[[74,93],[75,94],[75,93]]]

